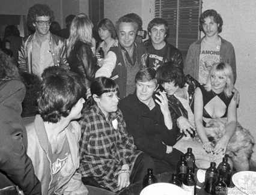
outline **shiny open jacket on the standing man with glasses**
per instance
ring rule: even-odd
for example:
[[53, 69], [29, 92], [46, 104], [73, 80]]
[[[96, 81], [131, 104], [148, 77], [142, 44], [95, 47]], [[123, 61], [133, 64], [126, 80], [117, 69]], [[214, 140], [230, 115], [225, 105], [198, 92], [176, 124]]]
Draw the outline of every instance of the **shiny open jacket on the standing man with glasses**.
[[[50, 32], [49, 32], [50, 33]], [[33, 52], [33, 41], [35, 40], [35, 33], [24, 37], [22, 39], [22, 45], [19, 50], [19, 69], [22, 71], [32, 72], [32, 52]], [[52, 53], [53, 64], [56, 66], [62, 66], [69, 69], [69, 64], [66, 58], [66, 40], [65, 38], [58, 37], [57, 35], [50, 33], [50, 51]]]

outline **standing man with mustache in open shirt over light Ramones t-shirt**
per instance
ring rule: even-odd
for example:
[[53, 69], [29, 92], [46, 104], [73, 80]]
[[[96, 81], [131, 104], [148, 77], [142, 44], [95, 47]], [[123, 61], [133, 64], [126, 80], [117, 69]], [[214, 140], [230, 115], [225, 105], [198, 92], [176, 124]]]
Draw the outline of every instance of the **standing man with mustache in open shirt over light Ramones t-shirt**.
[[200, 16], [200, 31], [205, 36], [192, 43], [187, 52], [184, 73], [190, 74], [201, 84], [206, 83], [212, 65], [226, 62], [231, 65], [236, 82], [236, 55], [233, 45], [221, 38], [223, 20], [215, 10], [206, 10]]

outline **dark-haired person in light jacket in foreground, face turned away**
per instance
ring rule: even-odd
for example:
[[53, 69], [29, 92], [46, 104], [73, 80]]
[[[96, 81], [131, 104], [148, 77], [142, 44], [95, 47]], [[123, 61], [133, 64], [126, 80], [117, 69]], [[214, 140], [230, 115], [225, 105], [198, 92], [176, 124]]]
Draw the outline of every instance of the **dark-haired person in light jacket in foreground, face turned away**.
[[40, 115], [26, 126], [28, 151], [41, 181], [42, 194], [81, 194], [88, 190], [82, 184], [78, 142], [86, 89], [78, 74], [61, 67], [44, 70], [38, 97]]

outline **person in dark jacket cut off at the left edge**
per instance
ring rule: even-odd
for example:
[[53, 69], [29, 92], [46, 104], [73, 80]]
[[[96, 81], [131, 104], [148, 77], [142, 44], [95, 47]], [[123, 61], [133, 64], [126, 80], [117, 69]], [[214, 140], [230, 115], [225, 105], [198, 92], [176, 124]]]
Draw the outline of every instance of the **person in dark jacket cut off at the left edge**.
[[0, 189], [17, 185], [24, 194], [41, 194], [26, 154], [28, 137], [20, 116], [26, 88], [19, 79], [17, 67], [0, 49]]

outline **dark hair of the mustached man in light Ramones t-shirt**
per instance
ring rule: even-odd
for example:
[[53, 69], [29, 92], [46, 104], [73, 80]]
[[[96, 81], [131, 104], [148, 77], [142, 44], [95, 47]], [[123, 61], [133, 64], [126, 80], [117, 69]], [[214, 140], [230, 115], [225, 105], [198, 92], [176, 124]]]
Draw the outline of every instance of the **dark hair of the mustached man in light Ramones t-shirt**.
[[222, 25], [223, 25], [223, 20], [220, 14], [217, 13], [217, 11], [215, 10], [206, 10], [204, 11], [201, 16], [200, 16], [200, 31], [204, 31], [203, 25], [204, 22], [206, 22], [204, 19], [206, 19], [207, 17], [213, 17], [213, 21], [216, 22], [219, 26], [218, 26], [218, 32], [221, 33], [222, 31]]

